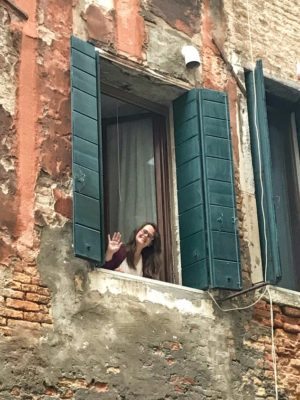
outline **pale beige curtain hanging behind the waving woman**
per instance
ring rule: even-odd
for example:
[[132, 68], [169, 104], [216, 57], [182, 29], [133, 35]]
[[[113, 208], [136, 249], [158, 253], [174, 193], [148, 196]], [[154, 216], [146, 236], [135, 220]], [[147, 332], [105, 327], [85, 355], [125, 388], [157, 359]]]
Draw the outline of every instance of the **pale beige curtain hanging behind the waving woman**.
[[109, 230], [126, 242], [135, 227], [156, 222], [152, 120], [109, 124], [107, 155]]

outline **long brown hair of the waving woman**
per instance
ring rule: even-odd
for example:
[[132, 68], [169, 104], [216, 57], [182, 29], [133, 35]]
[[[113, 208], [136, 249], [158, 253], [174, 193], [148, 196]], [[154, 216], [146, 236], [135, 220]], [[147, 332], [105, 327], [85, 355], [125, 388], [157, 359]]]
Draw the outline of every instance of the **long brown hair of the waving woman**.
[[161, 239], [157, 225], [153, 222], [145, 222], [140, 227], [136, 228], [127, 243], [127, 263], [130, 268], [136, 269], [134, 265], [134, 253], [136, 250], [136, 235], [146, 225], [151, 225], [154, 228], [154, 237], [150, 246], [145, 247], [142, 250], [143, 260], [143, 276], [145, 278], [158, 278], [160, 266], [161, 266]]

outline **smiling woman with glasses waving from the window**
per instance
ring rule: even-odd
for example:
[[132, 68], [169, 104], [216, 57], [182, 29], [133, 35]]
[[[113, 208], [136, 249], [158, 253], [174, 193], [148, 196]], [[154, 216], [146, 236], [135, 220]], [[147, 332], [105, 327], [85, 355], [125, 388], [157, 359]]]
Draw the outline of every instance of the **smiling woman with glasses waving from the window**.
[[114, 269], [146, 278], [158, 278], [161, 241], [157, 226], [146, 222], [135, 229], [127, 245], [121, 241], [120, 232], [108, 235], [104, 268]]

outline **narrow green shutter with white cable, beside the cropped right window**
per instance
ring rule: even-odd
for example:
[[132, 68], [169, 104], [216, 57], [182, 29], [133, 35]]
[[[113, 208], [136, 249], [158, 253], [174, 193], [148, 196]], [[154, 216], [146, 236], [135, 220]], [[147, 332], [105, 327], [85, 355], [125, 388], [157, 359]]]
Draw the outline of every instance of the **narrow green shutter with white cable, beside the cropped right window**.
[[[245, 78], [262, 261], [264, 268], [267, 266], [267, 280], [275, 284], [281, 278], [281, 267], [273, 201], [271, 150], [261, 60], [257, 61], [254, 73], [252, 71], [247, 72]], [[258, 135], [256, 130], [258, 130]]]

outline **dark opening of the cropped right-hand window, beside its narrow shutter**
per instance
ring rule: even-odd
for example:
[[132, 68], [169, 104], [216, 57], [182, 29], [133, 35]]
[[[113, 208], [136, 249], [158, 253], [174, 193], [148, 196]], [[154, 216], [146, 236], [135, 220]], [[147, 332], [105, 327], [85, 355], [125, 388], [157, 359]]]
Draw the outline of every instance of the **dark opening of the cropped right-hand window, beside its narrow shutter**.
[[299, 144], [292, 105], [267, 96], [274, 209], [282, 279], [280, 287], [300, 290]]

